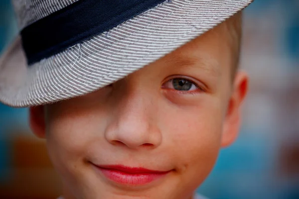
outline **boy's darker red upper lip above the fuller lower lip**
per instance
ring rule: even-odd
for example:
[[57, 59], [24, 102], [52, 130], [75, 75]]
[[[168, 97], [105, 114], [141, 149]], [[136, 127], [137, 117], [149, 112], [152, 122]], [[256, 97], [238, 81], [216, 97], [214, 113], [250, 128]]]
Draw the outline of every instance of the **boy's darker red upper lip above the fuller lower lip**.
[[117, 170], [129, 174], [147, 174], [147, 173], [162, 174], [168, 172], [168, 171], [150, 170], [142, 167], [128, 167], [124, 165], [96, 165], [96, 166], [101, 169]]

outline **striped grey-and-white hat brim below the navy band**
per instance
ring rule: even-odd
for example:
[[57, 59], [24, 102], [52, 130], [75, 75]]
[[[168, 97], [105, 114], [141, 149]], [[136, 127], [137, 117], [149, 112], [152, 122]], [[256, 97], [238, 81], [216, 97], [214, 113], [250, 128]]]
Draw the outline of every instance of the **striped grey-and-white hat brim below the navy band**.
[[165, 1], [29, 67], [17, 38], [0, 59], [0, 101], [25, 107], [96, 91], [172, 52], [252, 1]]

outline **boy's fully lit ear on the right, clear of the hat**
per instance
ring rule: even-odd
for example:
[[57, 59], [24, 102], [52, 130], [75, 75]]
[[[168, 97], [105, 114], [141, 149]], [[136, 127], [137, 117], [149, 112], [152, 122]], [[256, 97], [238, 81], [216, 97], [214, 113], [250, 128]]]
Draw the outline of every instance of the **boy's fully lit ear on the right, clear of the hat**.
[[221, 138], [221, 146], [226, 147], [232, 144], [238, 136], [241, 125], [240, 107], [246, 97], [248, 91], [248, 76], [244, 72], [237, 72], [233, 92], [229, 100], [223, 134]]

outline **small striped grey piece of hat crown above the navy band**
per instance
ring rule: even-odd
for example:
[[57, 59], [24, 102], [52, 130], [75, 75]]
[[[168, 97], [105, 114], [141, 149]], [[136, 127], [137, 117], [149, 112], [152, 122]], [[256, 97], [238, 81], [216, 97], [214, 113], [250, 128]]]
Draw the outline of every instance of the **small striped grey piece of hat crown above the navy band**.
[[11, 0], [20, 29], [78, 0]]

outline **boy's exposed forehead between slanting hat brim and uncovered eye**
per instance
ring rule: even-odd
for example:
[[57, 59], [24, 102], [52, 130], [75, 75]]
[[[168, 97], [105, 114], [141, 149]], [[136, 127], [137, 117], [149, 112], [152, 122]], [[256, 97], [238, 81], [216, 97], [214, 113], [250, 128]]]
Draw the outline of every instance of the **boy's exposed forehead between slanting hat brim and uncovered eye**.
[[220, 76], [232, 65], [228, 40], [225, 30], [215, 28], [166, 55], [163, 62], [173, 69], [196, 68]]

